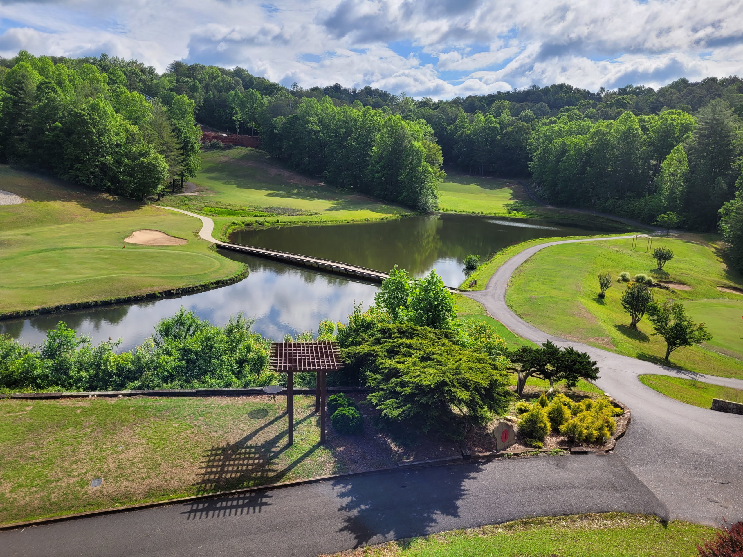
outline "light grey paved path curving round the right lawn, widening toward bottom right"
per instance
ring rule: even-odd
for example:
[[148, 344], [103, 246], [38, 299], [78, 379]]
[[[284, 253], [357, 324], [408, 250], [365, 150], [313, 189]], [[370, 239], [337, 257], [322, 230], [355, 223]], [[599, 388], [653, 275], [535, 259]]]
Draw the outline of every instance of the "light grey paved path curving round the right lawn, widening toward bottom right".
[[[626, 236], [631, 238], [631, 236]], [[632, 423], [615, 452], [637, 478], [666, 504], [671, 518], [721, 524], [743, 520], [743, 416], [680, 403], [646, 387], [640, 374], [697, 377], [717, 385], [743, 388], [743, 380], [693, 374], [570, 342], [544, 333], [513, 313], [505, 301], [513, 272], [539, 250], [557, 244], [610, 238], [553, 241], [524, 250], [506, 261], [485, 290], [466, 293], [519, 336], [541, 344], [588, 352], [598, 362], [597, 385], [632, 409]]]

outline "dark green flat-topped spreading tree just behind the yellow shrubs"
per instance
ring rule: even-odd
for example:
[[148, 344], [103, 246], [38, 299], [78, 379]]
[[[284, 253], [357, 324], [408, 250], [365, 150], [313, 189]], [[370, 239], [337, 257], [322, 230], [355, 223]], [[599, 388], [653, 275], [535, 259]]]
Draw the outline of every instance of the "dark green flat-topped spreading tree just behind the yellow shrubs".
[[597, 380], [599, 368], [585, 352], [578, 352], [573, 347], [558, 348], [547, 341], [539, 348], [521, 346], [508, 353], [511, 362], [509, 371], [516, 373], [516, 393], [524, 394], [524, 387], [529, 377], [549, 381], [550, 389], [554, 382], [565, 380], [573, 388], [582, 378]]

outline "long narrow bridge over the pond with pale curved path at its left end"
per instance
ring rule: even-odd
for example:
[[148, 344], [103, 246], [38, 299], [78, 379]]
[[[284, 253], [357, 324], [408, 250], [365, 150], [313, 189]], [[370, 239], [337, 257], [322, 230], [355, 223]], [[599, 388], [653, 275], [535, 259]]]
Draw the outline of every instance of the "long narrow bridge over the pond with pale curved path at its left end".
[[[352, 276], [369, 282], [381, 282], [385, 278], [389, 277], [389, 273], [383, 273], [382, 271], [367, 269], [366, 267], [359, 267], [358, 265], [351, 265], [348, 263], [343, 263], [341, 261], [332, 261], [331, 259], [310, 257], [309, 255], [299, 255], [298, 253], [282, 252], [279, 250], [267, 250], [263, 247], [245, 246], [243, 244], [232, 244], [230, 242], [223, 242], [217, 240], [216, 238], [212, 238], [212, 232], [214, 231], [214, 221], [212, 221], [211, 218], [184, 211], [182, 209], [174, 209], [173, 207], [163, 206], [162, 208], [182, 212], [186, 215], [201, 219], [201, 223], [203, 224], [203, 226], [201, 227], [199, 236], [206, 241], [217, 244], [218, 247], [221, 247], [224, 250], [233, 250], [236, 252], [244, 253], [246, 255], [253, 255], [253, 257], [261, 257], [265, 259], [272, 259], [273, 261], [281, 261], [282, 263], [296, 265], [298, 267], [308, 267], [310, 269], [324, 270], [328, 273]], [[458, 288], [447, 288], [452, 293], [460, 291]]]

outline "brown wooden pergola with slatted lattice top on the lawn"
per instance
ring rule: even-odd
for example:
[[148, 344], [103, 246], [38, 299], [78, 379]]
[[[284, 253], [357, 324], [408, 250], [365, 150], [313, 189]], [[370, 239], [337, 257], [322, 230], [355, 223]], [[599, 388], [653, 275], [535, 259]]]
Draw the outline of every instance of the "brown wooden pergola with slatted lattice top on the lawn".
[[325, 403], [328, 394], [325, 379], [328, 371], [343, 369], [337, 342], [273, 342], [268, 367], [279, 374], [288, 374], [286, 413], [289, 417], [289, 445], [294, 443], [294, 374], [317, 373], [315, 411], [320, 411], [320, 443], [325, 443]]

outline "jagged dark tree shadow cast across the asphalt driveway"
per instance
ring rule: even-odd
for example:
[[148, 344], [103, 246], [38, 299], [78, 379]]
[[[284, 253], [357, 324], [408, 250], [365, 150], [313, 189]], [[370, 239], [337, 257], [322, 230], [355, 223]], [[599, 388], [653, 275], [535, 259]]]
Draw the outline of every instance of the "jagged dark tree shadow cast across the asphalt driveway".
[[459, 501], [468, 491], [464, 482], [480, 471], [479, 465], [440, 466], [337, 480], [334, 491], [345, 499], [338, 511], [347, 515], [339, 532], [353, 535], [354, 547], [380, 535], [425, 535], [441, 516], [459, 517]]

